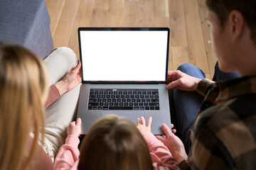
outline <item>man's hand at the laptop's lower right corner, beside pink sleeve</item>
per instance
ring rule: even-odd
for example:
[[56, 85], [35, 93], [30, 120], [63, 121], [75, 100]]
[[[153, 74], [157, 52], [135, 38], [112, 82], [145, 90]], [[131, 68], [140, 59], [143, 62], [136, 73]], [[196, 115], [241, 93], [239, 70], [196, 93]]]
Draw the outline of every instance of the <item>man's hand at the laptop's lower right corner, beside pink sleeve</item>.
[[170, 130], [170, 128], [166, 125], [162, 125], [162, 130], [164, 131], [163, 136], [156, 136], [158, 140], [164, 143], [164, 145], [169, 149], [171, 154], [176, 158], [178, 164], [183, 160], [188, 159], [188, 155], [186, 154], [185, 148], [181, 140], [174, 135], [173, 132], [176, 130]]

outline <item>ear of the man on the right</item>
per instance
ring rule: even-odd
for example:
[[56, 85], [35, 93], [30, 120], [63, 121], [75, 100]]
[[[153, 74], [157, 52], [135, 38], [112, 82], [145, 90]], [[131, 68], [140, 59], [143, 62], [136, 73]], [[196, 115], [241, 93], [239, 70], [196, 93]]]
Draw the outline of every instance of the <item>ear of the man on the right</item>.
[[237, 40], [245, 29], [245, 18], [240, 11], [233, 10], [229, 15], [229, 23], [232, 27], [232, 40]]

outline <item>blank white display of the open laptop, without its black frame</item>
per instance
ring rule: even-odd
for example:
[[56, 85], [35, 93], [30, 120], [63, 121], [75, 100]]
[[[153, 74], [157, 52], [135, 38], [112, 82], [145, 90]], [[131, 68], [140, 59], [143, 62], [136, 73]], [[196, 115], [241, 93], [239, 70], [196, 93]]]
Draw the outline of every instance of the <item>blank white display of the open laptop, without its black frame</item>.
[[83, 81], [165, 81], [167, 30], [80, 30]]

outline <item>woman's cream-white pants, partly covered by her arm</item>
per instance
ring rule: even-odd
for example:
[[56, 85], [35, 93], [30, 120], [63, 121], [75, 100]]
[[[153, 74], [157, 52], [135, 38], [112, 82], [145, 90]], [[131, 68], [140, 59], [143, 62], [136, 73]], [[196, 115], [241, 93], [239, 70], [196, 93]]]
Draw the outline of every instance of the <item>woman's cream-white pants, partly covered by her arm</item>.
[[[48, 67], [49, 86], [51, 86], [63, 79], [65, 74], [76, 66], [77, 57], [70, 48], [58, 47], [46, 57], [44, 62]], [[46, 128], [43, 149], [53, 162], [58, 149], [65, 144], [68, 125], [76, 118], [80, 85], [60, 96], [45, 110]]]

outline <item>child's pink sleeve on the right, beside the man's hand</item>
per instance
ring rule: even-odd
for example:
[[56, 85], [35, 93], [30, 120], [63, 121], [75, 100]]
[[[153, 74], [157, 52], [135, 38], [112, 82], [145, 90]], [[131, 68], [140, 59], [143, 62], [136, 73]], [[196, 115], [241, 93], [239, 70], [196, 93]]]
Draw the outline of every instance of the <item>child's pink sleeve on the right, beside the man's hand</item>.
[[180, 169], [178, 162], [163, 142], [157, 140], [152, 133], [146, 134], [144, 139], [149, 147], [154, 169]]

